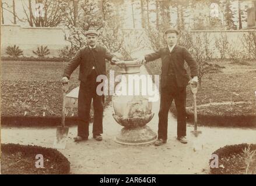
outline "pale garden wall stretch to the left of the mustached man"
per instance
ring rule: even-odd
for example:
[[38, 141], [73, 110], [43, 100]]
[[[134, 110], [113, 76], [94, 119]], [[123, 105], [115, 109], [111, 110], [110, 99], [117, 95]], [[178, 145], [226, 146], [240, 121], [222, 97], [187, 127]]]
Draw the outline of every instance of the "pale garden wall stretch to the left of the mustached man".
[[50, 55], [58, 56], [58, 50], [69, 45], [64, 40], [62, 28], [36, 28], [21, 27], [18, 25], [1, 25], [1, 56], [8, 56], [5, 53], [6, 47], [17, 45], [23, 50], [24, 56], [36, 56], [33, 51], [43, 45], [50, 49]]

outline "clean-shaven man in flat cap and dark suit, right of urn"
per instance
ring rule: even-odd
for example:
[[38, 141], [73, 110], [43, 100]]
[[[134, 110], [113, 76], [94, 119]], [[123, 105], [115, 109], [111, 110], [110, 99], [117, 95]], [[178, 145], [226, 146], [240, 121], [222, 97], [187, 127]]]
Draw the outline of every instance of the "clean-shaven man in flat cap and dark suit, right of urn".
[[[189, 83], [197, 83], [198, 64], [186, 48], [177, 45], [177, 35], [178, 31], [176, 29], [167, 29], [164, 32], [167, 46], [138, 59], [139, 63], [162, 59], [158, 140], [155, 142], [157, 146], [163, 145], [167, 141], [168, 113], [173, 99], [177, 110], [177, 140], [183, 144], [187, 143], [186, 87]], [[185, 70], [184, 62], [190, 67], [191, 80], [187, 70]]]

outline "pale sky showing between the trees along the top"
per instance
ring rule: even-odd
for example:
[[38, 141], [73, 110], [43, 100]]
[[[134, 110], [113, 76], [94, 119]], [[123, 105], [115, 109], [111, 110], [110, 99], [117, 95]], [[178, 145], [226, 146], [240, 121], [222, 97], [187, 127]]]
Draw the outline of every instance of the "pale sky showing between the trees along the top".
[[[29, 1], [31, 2], [32, 13], [35, 15], [35, 0], [15, 0], [16, 24], [29, 26], [28, 22], [21, 22], [21, 20], [26, 19], [27, 15], [29, 15]], [[84, 0], [79, 1], [83, 2]], [[246, 9], [252, 1], [109, 0], [109, 2], [111, 2], [114, 8], [113, 10], [117, 11], [118, 15], [122, 17], [122, 28], [143, 28], [143, 21], [147, 26], [150, 26], [150, 24], [161, 24], [163, 20], [167, 19], [165, 16], [169, 16], [170, 21], [166, 24], [170, 24], [172, 27], [178, 27], [182, 24], [181, 28], [186, 30], [211, 30], [215, 27], [223, 30], [236, 30], [239, 29], [239, 12], [242, 28], [247, 27]], [[210, 20], [212, 3], [218, 4], [218, 23]], [[12, 13], [13, 0], [2, 0], [2, 7], [3, 20], [1, 22], [4, 22], [4, 24], [15, 23]], [[216, 26], [212, 26], [213, 24], [216, 24]], [[61, 24], [58, 24], [58, 26], [61, 26]]]

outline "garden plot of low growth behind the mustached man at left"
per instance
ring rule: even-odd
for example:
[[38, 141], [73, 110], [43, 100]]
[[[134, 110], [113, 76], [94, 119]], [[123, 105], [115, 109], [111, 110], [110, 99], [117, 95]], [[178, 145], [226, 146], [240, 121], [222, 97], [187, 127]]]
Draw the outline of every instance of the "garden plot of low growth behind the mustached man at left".
[[[61, 116], [61, 78], [67, 63], [61, 62], [1, 62], [2, 116]], [[107, 70], [117, 66], [107, 63]], [[79, 68], [69, 81], [69, 91], [79, 86]], [[111, 101], [106, 96], [104, 106]], [[76, 110], [75, 110], [76, 111]], [[77, 116], [77, 112], [75, 115]]]

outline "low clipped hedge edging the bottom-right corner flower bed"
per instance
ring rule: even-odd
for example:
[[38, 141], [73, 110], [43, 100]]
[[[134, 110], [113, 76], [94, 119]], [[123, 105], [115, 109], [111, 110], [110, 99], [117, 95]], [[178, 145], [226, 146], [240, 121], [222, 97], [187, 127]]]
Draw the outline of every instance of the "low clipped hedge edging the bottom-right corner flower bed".
[[[226, 145], [222, 148], [219, 148], [212, 155], [218, 155], [219, 160], [225, 157], [230, 157], [234, 154], [243, 153], [244, 148], [248, 148], [249, 144], [237, 144], [237, 145]], [[256, 149], [256, 144], [251, 144], [251, 150]], [[211, 174], [223, 174], [225, 168], [219, 167], [214, 168], [211, 167], [212, 159], [209, 160], [209, 165], [211, 169]], [[220, 164], [219, 164], [220, 165]]]

